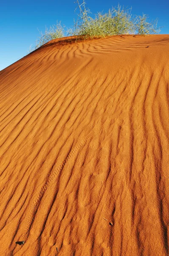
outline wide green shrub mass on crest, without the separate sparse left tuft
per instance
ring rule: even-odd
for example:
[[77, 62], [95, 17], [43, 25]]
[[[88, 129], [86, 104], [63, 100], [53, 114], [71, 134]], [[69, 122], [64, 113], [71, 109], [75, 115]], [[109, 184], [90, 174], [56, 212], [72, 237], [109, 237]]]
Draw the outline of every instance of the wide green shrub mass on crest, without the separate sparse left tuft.
[[111, 35], [138, 34], [147, 35], [160, 32], [157, 28], [157, 19], [148, 22], [148, 15], [133, 16], [131, 8], [124, 9], [118, 4], [117, 8], [112, 7], [107, 13], [98, 12], [95, 18], [90, 17], [90, 10], [86, 8], [85, 0], [82, 4], [76, 0], [80, 13], [70, 32], [78, 38], [103, 38]]

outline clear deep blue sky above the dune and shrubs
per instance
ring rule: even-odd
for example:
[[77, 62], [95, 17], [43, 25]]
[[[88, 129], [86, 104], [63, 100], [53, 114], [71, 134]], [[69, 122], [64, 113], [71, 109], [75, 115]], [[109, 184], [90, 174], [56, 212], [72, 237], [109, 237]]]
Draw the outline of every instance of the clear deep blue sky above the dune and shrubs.
[[[62, 21], [66, 27], [73, 26], [77, 14], [75, 0], [1, 0], [0, 4], [0, 70], [8, 67], [29, 51], [39, 31], [45, 32]], [[79, 0], [82, 3], [82, 0]], [[169, 34], [168, 0], [85, 0], [87, 7], [95, 14], [107, 12], [112, 6], [130, 8], [133, 15], [148, 14], [150, 20], [158, 17], [161, 34]], [[38, 29], [37, 29], [38, 28]]]

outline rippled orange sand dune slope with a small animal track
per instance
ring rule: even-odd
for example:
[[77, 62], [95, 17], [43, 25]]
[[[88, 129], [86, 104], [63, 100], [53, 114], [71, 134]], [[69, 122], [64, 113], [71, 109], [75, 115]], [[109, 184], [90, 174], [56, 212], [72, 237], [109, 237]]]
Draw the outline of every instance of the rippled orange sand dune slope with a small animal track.
[[2, 70], [0, 256], [167, 256], [168, 150], [169, 35], [54, 40]]

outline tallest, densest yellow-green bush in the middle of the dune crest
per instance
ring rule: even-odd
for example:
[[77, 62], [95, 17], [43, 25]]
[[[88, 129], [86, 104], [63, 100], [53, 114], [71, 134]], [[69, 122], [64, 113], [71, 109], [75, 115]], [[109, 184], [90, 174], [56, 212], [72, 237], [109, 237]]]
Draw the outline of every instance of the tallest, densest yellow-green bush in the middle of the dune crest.
[[86, 8], [86, 3], [78, 4], [80, 13], [74, 22], [72, 35], [79, 38], [102, 38], [110, 35], [127, 34], [132, 31], [131, 9], [117, 8], [109, 9], [107, 13], [98, 12], [94, 18], [90, 17], [90, 10]]

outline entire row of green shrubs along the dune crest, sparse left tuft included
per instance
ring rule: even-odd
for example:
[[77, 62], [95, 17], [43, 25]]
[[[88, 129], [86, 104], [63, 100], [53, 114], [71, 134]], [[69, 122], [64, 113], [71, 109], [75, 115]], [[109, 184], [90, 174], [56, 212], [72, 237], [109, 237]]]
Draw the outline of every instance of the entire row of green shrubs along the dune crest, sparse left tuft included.
[[[107, 13], [98, 12], [94, 18], [90, 17], [90, 10], [86, 7], [85, 0], [82, 4], [76, 0], [77, 8], [79, 8], [78, 18], [74, 20], [73, 29], [67, 30], [65, 34], [64, 26], [61, 22], [45, 30], [45, 34], [40, 32], [40, 36], [36, 41], [36, 46], [29, 52], [41, 47], [48, 41], [56, 38], [62, 38], [68, 35], [76, 36], [76, 40], [86, 40], [93, 38], [104, 38], [112, 35], [149, 35], [159, 33], [161, 30], [157, 27], [158, 19], [149, 22], [148, 15], [143, 16], [131, 14], [130, 9], [112, 7]], [[76, 11], [75, 9], [75, 11]]]

